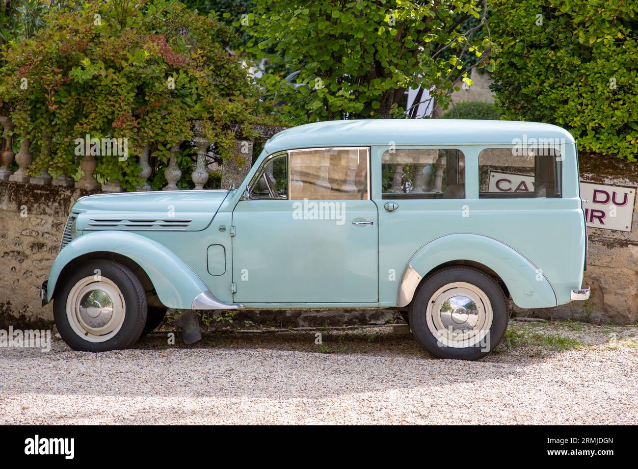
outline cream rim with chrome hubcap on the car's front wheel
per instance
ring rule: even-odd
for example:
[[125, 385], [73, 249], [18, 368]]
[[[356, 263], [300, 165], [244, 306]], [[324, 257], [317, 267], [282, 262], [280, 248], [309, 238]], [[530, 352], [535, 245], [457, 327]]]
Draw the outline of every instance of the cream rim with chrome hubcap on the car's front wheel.
[[80, 279], [66, 299], [66, 317], [71, 329], [89, 342], [105, 342], [124, 323], [126, 304], [115, 283], [94, 276]]

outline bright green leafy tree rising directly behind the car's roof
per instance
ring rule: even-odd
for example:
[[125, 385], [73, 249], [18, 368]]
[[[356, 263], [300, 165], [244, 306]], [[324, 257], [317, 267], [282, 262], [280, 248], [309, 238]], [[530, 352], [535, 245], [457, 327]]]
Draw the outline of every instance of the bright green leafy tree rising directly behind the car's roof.
[[[471, 84], [465, 57], [482, 57], [481, 66], [491, 66], [486, 59], [491, 42], [472, 35], [484, 22], [482, 3], [256, 0], [255, 5], [245, 19], [254, 36], [254, 47], [247, 48], [269, 59], [277, 72], [266, 73], [262, 84], [277, 93], [286, 105], [280, 114], [292, 123], [404, 117], [404, 91], [419, 86], [433, 89], [433, 99], [447, 107], [457, 78]], [[479, 19], [476, 29], [462, 29], [470, 18]], [[283, 78], [297, 70], [288, 86]]]

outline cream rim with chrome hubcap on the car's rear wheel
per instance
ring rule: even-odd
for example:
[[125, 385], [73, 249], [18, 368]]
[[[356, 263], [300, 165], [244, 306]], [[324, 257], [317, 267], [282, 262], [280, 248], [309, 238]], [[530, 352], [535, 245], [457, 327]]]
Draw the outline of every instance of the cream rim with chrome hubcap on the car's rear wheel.
[[480, 343], [492, 327], [492, 304], [476, 285], [448, 283], [427, 302], [426, 320], [430, 332], [441, 344], [470, 347]]

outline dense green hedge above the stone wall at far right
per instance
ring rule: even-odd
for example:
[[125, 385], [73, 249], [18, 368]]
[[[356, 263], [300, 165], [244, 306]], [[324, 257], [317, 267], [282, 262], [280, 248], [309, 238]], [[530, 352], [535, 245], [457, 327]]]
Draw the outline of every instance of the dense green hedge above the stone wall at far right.
[[494, 0], [494, 70], [507, 119], [563, 126], [586, 151], [636, 161], [638, 2]]

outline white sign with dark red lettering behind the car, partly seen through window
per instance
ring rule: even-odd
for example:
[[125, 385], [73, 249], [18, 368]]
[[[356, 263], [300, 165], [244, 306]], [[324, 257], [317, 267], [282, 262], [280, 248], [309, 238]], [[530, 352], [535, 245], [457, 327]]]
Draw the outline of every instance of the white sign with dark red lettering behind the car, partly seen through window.
[[[531, 192], [534, 177], [523, 174], [489, 172], [490, 192]], [[588, 227], [631, 231], [636, 188], [581, 182], [582, 204]]]

